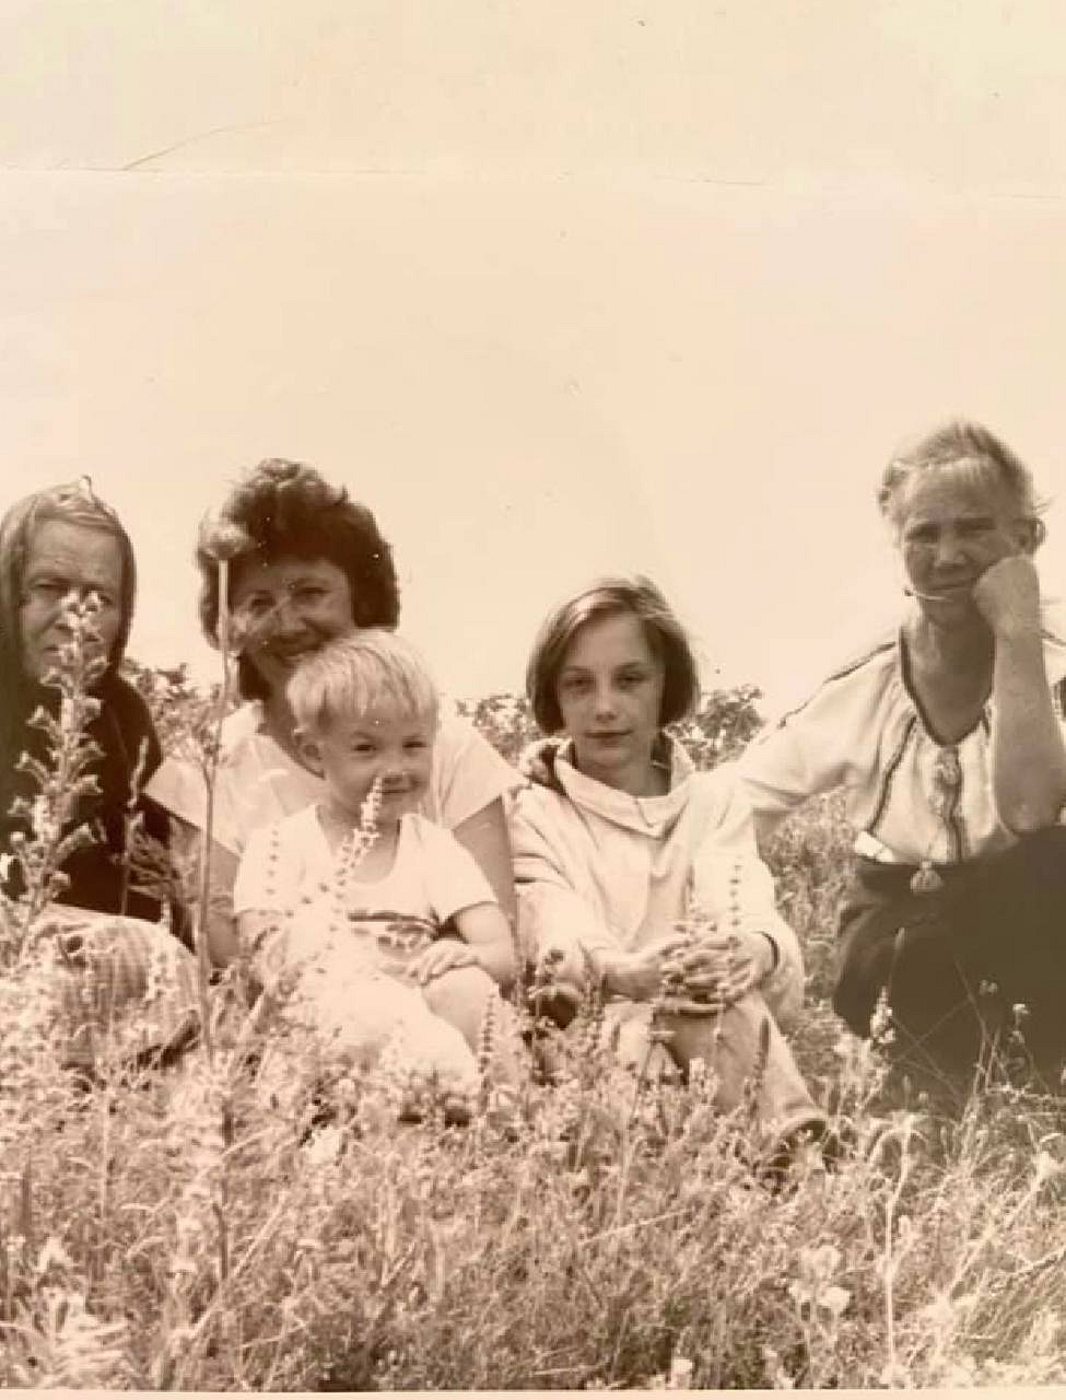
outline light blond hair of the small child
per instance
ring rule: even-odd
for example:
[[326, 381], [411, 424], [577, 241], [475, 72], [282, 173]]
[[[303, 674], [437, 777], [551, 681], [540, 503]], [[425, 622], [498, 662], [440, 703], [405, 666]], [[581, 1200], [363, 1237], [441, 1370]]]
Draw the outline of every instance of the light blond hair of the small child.
[[435, 725], [439, 704], [432, 676], [414, 647], [376, 627], [308, 657], [285, 693], [297, 728], [309, 735], [371, 710], [397, 711]]

